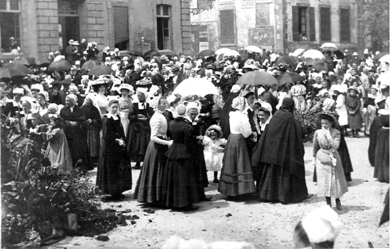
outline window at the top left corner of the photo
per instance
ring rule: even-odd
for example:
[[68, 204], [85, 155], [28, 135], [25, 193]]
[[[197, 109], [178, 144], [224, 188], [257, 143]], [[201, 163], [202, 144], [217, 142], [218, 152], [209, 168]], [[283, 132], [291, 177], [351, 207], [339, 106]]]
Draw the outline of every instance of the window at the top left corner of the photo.
[[19, 0], [0, 0], [0, 32], [1, 52], [11, 52], [20, 47]]

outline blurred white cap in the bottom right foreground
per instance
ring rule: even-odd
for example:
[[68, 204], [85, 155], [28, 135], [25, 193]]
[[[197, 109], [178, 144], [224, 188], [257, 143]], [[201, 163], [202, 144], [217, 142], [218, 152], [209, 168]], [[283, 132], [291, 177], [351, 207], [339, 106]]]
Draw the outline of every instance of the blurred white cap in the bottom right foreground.
[[311, 243], [334, 241], [341, 230], [338, 215], [328, 205], [316, 208], [302, 219], [302, 227]]

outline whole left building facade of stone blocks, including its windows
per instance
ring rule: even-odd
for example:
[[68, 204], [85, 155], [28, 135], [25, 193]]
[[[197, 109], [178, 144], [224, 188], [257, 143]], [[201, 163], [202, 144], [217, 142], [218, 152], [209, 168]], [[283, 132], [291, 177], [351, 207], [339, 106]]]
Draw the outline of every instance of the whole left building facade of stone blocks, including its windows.
[[189, 0], [1, 0], [0, 58], [10, 37], [25, 57], [42, 58], [70, 39], [145, 53], [190, 54]]

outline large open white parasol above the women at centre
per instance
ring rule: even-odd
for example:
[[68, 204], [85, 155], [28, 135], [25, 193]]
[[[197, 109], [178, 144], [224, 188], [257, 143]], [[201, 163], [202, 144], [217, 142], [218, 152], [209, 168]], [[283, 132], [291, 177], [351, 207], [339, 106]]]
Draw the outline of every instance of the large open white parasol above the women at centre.
[[218, 94], [215, 85], [203, 78], [191, 78], [182, 81], [173, 90], [172, 94], [180, 94], [182, 97], [190, 95], [206, 96], [207, 94]]

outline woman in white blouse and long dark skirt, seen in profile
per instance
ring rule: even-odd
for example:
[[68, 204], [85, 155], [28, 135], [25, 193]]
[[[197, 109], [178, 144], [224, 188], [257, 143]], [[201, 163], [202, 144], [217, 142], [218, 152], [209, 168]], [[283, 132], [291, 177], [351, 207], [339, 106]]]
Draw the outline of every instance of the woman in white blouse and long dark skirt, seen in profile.
[[162, 174], [167, 161], [168, 148], [173, 140], [167, 141], [168, 124], [163, 115], [167, 109], [167, 101], [163, 97], [153, 99], [154, 114], [150, 118], [150, 142], [146, 150], [144, 164], [134, 190], [134, 199], [138, 202], [161, 203]]

